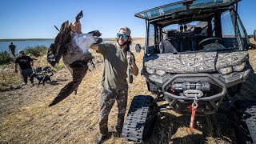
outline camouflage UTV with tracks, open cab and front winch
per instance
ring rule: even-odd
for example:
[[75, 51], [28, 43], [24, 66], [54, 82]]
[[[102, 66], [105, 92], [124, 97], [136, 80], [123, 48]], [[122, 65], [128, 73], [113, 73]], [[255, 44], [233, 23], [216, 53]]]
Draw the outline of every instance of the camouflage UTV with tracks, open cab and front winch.
[[[135, 14], [146, 20], [142, 75], [155, 97], [137, 95], [122, 136], [145, 142], [161, 110], [214, 114], [253, 73], [239, 0], [186, 0]], [[136, 46], [139, 50], [141, 47]], [[159, 100], [167, 105], [158, 106]], [[193, 128], [190, 126], [190, 130]]]

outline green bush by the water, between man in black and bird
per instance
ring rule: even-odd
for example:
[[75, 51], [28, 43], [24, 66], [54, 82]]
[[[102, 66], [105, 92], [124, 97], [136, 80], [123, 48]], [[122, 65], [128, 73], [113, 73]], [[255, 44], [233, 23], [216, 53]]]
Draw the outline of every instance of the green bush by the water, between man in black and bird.
[[47, 54], [47, 50], [48, 48], [46, 46], [29, 46], [24, 50], [24, 52], [25, 54], [31, 54], [35, 57], [39, 57]]

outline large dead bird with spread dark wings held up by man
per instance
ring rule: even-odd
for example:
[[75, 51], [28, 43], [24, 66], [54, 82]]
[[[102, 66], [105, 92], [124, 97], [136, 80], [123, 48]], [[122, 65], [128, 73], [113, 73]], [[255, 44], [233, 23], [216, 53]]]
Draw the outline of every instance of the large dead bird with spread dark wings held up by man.
[[73, 79], [62, 88], [58, 96], [54, 98], [54, 101], [49, 106], [54, 106], [58, 102], [61, 102], [73, 91], [76, 93], [79, 84], [82, 82], [82, 78], [84, 78], [88, 70], [87, 63], [92, 59], [88, 51], [89, 47], [94, 43], [102, 42], [102, 38], [98, 38], [100, 36], [101, 33], [98, 30], [94, 30], [88, 34], [71, 34], [69, 22], [66, 21], [62, 24], [58, 35], [50, 45], [47, 61], [51, 66], [55, 66], [60, 58], [62, 58]]

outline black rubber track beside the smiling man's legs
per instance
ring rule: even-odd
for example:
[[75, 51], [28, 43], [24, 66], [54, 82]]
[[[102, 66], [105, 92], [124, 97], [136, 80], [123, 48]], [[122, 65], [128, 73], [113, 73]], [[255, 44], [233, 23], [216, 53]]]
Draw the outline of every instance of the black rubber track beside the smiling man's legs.
[[122, 128], [123, 138], [136, 143], [143, 142], [143, 130], [152, 100], [153, 98], [151, 96], [146, 95], [137, 95], [133, 98], [126, 122]]

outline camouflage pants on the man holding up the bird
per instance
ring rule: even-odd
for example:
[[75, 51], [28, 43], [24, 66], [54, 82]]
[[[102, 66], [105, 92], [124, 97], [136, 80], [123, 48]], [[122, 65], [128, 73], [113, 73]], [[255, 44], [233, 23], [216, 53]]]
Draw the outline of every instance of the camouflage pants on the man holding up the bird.
[[126, 114], [127, 96], [127, 90], [106, 90], [103, 88], [99, 118], [100, 134], [108, 134], [108, 116], [115, 101], [118, 102], [118, 118], [115, 128], [118, 132], [122, 131], [122, 126]]

